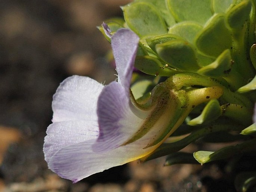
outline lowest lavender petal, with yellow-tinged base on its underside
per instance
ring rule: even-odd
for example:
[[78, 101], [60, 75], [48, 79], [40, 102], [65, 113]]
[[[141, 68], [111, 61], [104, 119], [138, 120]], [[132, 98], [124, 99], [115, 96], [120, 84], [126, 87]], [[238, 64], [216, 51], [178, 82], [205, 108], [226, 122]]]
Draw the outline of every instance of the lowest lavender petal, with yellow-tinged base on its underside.
[[[87, 140], [60, 149], [48, 162], [49, 168], [60, 177], [77, 183], [92, 174], [144, 157], [153, 150], [142, 149], [140, 142], [134, 142], [96, 153], [92, 151], [92, 143], [93, 140]], [[145, 141], [142, 143], [145, 145]]]

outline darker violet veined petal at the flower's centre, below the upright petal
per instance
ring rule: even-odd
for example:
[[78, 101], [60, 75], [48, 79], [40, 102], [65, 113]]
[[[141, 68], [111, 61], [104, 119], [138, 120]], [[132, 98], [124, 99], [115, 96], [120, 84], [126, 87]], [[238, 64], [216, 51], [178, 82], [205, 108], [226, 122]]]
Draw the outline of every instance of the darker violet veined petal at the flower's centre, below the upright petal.
[[117, 148], [136, 132], [142, 123], [130, 110], [130, 99], [125, 88], [112, 82], [105, 86], [98, 99], [99, 138], [93, 146], [95, 151]]

